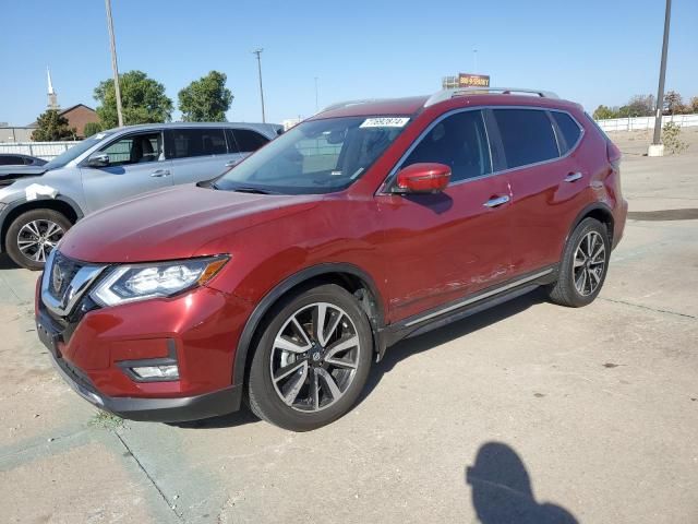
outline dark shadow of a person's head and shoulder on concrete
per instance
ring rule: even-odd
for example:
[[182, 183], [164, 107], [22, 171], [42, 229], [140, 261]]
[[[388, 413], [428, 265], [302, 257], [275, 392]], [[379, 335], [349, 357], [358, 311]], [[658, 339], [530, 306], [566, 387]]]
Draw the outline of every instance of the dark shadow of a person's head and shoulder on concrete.
[[482, 524], [577, 524], [565, 508], [537, 502], [531, 478], [519, 455], [507, 444], [486, 442], [472, 466], [466, 467], [466, 484]]

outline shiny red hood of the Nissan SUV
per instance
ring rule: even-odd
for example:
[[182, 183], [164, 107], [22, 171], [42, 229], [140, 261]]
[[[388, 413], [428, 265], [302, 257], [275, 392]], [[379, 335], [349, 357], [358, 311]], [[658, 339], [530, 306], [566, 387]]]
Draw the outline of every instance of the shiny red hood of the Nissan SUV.
[[206, 245], [316, 204], [316, 195], [250, 194], [177, 186], [145, 193], [80, 221], [60, 243], [75, 260], [149, 262], [219, 254]]

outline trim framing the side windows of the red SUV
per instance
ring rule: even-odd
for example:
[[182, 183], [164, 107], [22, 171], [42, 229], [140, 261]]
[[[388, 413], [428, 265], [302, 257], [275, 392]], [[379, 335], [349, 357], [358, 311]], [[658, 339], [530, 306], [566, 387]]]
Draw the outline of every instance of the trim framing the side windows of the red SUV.
[[[389, 191], [389, 187], [392, 186], [395, 176], [397, 175], [397, 171], [400, 169], [400, 166], [402, 165], [402, 163], [408, 158], [408, 156], [412, 153], [412, 151], [419, 145], [419, 143], [424, 140], [424, 136], [426, 136], [426, 134], [437, 124], [440, 123], [442, 120], [444, 120], [445, 118], [450, 117], [452, 115], [456, 115], [459, 112], [465, 112], [465, 111], [483, 111], [485, 109], [530, 109], [530, 110], [535, 110], [535, 111], [556, 111], [556, 112], [564, 112], [565, 115], [567, 115], [569, 118], [573, 119], [573, 121], [577, 124], [577, 127], [579, 128], [579, 138], [577, 139], [577, 142], [575, 142], [575, 145], [569, 147], [569, 150], [567, 150], [567, 152], [564, 155], [559, 155], [555, 158], [549, 158], [547, 160], [541, 160], [541, 162], [535, 162], [533, 164], [525, 164], [522, 166], [516, 166], [516, 167], [509, 167], [506, 169], [501, 169], [498, 171], [492, 171], [489, 172], [486, 175], [482, 175], [480, 177], [472, 177], [472, 178], [466, 178], [465, 180], [458, 180], [457, 182], [454, 183], [449, 183], [448, 188], [455, 187], [455, 186], [459, 186], [461, 183], [467, 183], [467, 182], [471, 182], [471, 181], [476, 181], [476, 180], [482, 180], [483, 178], [490, 178], [490, 177], [494, 177], [497, 175], [504, 175], [504, 174], [508, 174], [510, 171], [515, 171], [517, 169], [528, 169], [530, 167], [537, 167], [537, 166], [542, 166], [544, 164], [551, 164], [553, 162], [557, 162], [557, 160], [562, 160], [564, 158], [567, 158], [568, 156], [570, 156], [573, 153], [575, 153], [577, 151], [577, 147], [579, 147], [579, 144], [581, 143], [583, 136], [585, 136], [585, 128], [583, 126], [581, 126], [579, 123], [579, 121], [575, 118], [574, 115], [571, 115], [569, 111], [565, 110], [565, 109], [557, 109], [557, 108], [549, 108], [549, 107], [540, 107], [540, 106], [476, 106], [476, 107], [459, 107], [457, 109], [452, 109], [450, 111], [446, 111], [443, 115], [441, 115], [436, 120], [434, 120], [433, 122], [431, 122], [426, 129], [424, 129], [424, 131], [422, 131], [420, 133], [420, 135], [412, 142], [412, 144], [407, 148], [407, 151], [402, 154], [402, 156], [400, 156], [399, 160], [395, 164], [395, 166], [393, 166], [393, 168], [390, 169], [390, 171], [388, 172], [387, 177], [385, 177], [385, 179], [383, 180], [383, 183], [381, 184], [381, 187], [378, 188], [378, 190], [376, 191], [376, 195], [392, 195], [392, 194], [399, 194], [399, 193], [394, 193], [392, 191]], [[550, 117], [549, 117], [550, 119]], [[484, 119], [483, 119], [484, 120]], [[492, 160], [492, 143], [490, 141], [490, 132], [488, 130], [488, 122], [484, 121], [484, 129], [485, 129], [485, 136], [488, 139], [488, 147], [490, 150], [490, 168], [494, 168], [494, 164]], [[555, 128], [553, 126], [553, 122], [551, 122], [551, 128], [553, 129], [553, 135], [555, 136], [555, 143], [557, 144], [557, 134], [555, 132]], [[559, 152], [559, 147], [557, 147], [557, 151]], [[506, 151], [504, 152], [505, 156], [506, 156]]]

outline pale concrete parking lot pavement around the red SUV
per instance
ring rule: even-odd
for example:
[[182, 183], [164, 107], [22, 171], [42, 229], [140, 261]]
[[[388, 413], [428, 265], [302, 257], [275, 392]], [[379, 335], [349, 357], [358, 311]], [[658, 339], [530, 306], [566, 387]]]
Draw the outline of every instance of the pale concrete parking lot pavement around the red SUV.
[[246, 410], [104, 416], [36, 337], [36, 273], [0, 259], [0, 521], [698, 522], [698, 130], [625, 153], [600, 298], [533, 293], [393, 347], [360, 404], [292, 433]]

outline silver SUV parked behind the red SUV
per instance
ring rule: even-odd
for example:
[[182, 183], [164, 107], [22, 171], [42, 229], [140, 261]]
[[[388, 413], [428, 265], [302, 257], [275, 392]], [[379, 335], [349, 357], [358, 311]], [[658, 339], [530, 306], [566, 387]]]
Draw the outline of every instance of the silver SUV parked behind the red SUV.
[[215, 178], [276, 138], [270, 123], [156, 123], [97, 133], [40, 167], [0, 168], [0, 252], [39, 270], [84, 215]]

